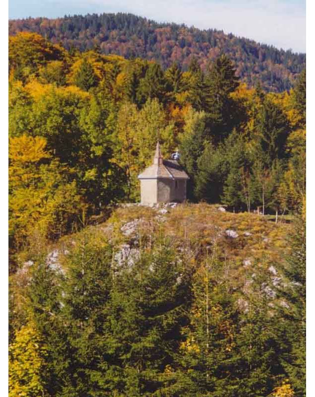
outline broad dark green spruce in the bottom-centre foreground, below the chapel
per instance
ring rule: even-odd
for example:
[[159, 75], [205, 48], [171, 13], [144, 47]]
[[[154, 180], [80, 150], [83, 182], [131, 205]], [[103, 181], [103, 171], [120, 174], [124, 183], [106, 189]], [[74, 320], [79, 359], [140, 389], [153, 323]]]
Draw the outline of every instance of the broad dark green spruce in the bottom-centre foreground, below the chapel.
[[153, 252], [141, 252], [132, 267], [118, 268], [115, 277], [108, 344], [123, 371], [113, 387], [126, 396], [161, 395], [168, 387], [187, 321], [186, 270], [171, 242], [157, 244]]

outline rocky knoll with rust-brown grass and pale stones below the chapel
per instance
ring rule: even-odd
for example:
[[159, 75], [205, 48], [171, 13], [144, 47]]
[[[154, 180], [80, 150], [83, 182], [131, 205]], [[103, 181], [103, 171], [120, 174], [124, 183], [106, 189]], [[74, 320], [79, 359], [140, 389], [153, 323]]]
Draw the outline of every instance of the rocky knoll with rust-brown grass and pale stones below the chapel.
[[[269, 275], [272, 281], [277, 274], [275, 266], [290, 251], [286, 241], [290, 224], [281, 220], [275, 224], [266, 216], [248, 212], [231, 213], [219, 205], [121, 204], [106, 221], [94, 223], [47, 244], [47, 263], [63, 271], [64, 258], [80, 244], [82, 236], [88, 236], [87, 240], [113, 247], [115, 266], [132, 266], [145, 252], [154, 251], [162, 238], [171, 243], [178, 257], [185, 258], [191, 271], [204, 264], [207, 247], [213, 251], [215, 246], [217, 260], [228, 269], [226, 281], [239, 289], [255, 271]], [[27, 255], [32, 256], [32, 249]], [[29, 265], [24, 264], [22, 274]]]

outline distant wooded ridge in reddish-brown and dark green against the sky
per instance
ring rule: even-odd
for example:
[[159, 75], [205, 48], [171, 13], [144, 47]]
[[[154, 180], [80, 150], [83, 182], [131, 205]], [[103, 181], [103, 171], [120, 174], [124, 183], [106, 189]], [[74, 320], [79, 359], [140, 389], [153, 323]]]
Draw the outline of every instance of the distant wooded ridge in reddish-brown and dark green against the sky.
[[203, 71], [220, 55], [227, 55], [236, 74], [249, 87], [259, 81], [266, 91], [282, 92], [294, 85], [306, 66], [306, 55], [276, 49], [215, 29], [199, 30], [175, 23], [157, 23], [132, 14], [88, 14], [64, 18], [9, 21], [9, 34], [35, 32], [81, 52], [98, 48], [101, 54], [157, 61], [163, 69], [178, 63], [188, 70], [192, 58]]

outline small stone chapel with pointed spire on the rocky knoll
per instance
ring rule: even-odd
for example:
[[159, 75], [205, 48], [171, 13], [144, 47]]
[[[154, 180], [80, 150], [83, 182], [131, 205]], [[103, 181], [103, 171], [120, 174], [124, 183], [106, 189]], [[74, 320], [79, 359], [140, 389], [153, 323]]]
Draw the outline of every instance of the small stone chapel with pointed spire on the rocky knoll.
[[141, 204], [186, 200], [189, 176], [178, 163], [178, 159], [177, 151], [171, 160], [164, 160], [157, 142], [153, 164], [138, 176], [141, 183]]

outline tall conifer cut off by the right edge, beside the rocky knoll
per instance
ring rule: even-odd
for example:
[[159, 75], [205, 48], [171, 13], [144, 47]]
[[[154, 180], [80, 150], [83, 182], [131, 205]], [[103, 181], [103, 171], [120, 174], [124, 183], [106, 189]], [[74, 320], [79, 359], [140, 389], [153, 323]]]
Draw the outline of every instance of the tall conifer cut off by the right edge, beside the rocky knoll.
[[277, 335], [280, 358], [295, 396], [306, 396], [306, 223], [297, 215], [290, 237], [291, 254], [282, 266], [278, 289]]

